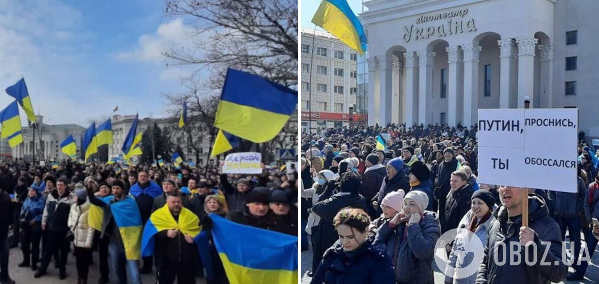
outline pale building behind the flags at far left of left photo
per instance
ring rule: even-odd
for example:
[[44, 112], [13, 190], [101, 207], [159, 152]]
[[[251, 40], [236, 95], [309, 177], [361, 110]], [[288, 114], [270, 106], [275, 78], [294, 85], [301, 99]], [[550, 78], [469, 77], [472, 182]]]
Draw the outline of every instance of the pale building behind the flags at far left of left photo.
[[[53, 158], [68, 158], [60, 149], [60, 143], [69, 135], [73, 136], [75, 143], [79, 146], [79, 141], [85, 129], [77, 124], [46, 124], [42, 115], [37, 116], [38, 127], [34, 129], [29, 126], [23, 126], [23, 143], [12, 149], [15, 158], [33, 158], [35, 143], [35, 160], [49, 160]], [[2, 142], [4, 143], [4, 142]], [[78, 153], [79, 149], [77, 149]]]

